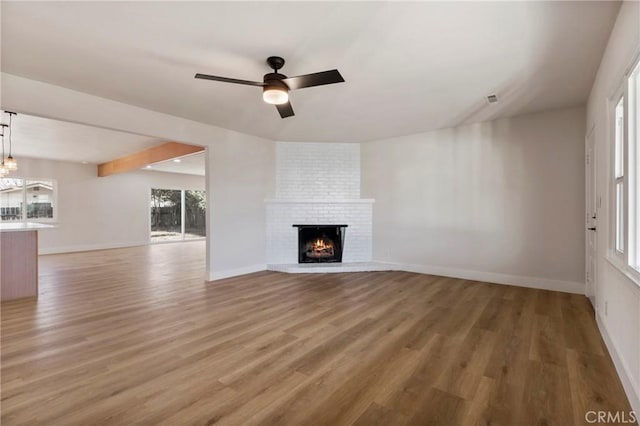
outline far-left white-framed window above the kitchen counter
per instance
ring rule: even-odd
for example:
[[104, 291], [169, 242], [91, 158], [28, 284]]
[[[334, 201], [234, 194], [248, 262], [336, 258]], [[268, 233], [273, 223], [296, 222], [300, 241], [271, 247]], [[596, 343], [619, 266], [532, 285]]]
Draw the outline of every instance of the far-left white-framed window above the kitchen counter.
[[55, 182], [43, 179], [0, 179], [0, 222], [55, 219]]

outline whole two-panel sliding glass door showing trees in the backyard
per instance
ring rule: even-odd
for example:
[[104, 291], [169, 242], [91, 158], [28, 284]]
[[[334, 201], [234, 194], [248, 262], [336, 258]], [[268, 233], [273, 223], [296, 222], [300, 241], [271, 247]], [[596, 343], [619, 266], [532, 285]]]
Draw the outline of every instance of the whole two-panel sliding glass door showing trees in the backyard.
[[151, 241], [204, 238], [206, 202], [204, 191], [151, 189]]

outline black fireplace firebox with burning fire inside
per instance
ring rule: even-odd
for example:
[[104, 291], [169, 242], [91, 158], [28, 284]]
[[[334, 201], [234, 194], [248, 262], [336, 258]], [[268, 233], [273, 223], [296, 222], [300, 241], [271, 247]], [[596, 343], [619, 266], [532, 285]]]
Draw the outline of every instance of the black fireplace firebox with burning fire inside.
[[342, 262], [348, 225], [293, 225], [298, 228], [298, 263]]

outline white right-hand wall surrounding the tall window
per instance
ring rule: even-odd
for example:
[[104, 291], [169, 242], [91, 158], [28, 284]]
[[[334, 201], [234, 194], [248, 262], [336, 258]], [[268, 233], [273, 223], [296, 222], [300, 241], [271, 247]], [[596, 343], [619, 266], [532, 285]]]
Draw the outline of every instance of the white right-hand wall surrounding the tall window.
[[[640, 54], [640, 3], [622, 4], [615, 27], [600, 63], [587, 104], [586, 129], [593, 127], [596, 143], [598, 210], [598, 262], [596, 315], [625, 390], [636, 413], [640, 413], [640, 286], [607, 261], [611, 241], [612, 200], [609, 99], [623, 81], [631, 62]], [[605, 313], [605, 303], [608, 304]]]

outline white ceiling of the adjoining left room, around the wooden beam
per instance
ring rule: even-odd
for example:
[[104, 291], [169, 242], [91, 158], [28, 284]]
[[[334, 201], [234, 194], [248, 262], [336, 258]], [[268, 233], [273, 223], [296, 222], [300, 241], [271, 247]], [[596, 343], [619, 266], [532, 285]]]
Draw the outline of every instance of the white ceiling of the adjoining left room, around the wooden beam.
[[[1, 113], [1, 112], [0, 112]], [[2, 122], [8, 116], [1, 114]], [[13, 117], [12, 154], [20, 157], [100, 164], [167, 141], [83, 124], [18, 114]], [[8, 132], [6, 134], [8, 136]], [[5, 149], [9, 149], [5, 137]], [[151, 170], [204, 176], [204, 154], [154, 164]]]

